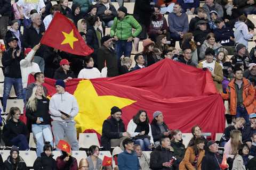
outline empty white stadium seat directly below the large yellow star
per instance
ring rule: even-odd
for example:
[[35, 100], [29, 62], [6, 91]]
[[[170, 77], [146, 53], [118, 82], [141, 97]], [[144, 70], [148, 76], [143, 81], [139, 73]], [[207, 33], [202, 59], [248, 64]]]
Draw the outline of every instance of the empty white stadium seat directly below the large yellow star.
[[96, 133], [79, 133], [79, 148], [89, 149], [90, 146], [96, 145], [100, 147], [100, 143]]

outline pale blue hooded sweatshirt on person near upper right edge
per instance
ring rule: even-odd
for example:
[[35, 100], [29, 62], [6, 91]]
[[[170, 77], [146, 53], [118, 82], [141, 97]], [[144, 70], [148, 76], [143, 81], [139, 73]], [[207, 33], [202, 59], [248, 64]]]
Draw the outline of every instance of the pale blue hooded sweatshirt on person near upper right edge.
[[235, 41], [237, 44], [243, 44], [248, 47], [248, 40], [253, 37], [252, 33], [249, 33], [247, 25], [242, 21], [235, 23]]

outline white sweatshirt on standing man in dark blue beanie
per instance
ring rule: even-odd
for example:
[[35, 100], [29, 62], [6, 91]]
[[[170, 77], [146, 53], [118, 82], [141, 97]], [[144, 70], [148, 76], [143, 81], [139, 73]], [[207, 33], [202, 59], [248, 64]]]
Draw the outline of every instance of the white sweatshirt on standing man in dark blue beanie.
[[[49, 109], [53, 121], [70, 122], [74, 121], [74, 117], [78, 113], [78, 104], [76, 98], [65, 91], [64, 94], [54, 94], [52, 96]], [[70, 117], [67, 120], [63, 120], [60, 111]]]

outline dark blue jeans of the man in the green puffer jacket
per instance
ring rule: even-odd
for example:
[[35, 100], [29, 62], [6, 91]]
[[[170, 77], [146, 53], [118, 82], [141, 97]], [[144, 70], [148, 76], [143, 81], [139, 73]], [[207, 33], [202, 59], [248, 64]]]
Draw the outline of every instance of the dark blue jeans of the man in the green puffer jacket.
[[116, 56], [118, 65], [120, 65], [120, 58], [122, 55], [125, 57], [130, 57], [132, 52], [132, 42], [127, 42], [127, 40], [116, 41], [115, 44]]

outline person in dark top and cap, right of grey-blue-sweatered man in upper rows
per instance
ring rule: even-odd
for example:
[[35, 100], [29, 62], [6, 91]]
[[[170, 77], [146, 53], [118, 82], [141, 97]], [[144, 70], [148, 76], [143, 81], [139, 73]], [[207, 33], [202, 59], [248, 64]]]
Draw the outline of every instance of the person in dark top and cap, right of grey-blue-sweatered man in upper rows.
[[189, 32], [193, 32], [197, 29], [197, 22], [203, 20], [207, 23], [207, 15], [204, 11], [204, 8], [198, 7], [197, 8], [197, 16], [195, 18], [191, 19], [189, 22]]

